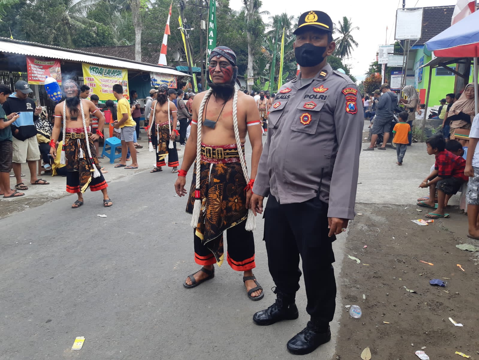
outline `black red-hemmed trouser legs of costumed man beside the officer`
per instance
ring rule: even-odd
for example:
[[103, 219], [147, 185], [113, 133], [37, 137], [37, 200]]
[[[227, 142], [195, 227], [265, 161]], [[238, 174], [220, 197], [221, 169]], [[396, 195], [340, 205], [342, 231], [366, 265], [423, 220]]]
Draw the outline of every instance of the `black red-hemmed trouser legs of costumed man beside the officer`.
[[[228, 243], [226, 260], [229, 266], [236, 271], [248, 271], [256, 267], [253, 232], [246, 231], [245, 226], [246, 221], [242, 221], [226, 230], [226, 241]], [[201, 243], [201, 239], [196, 235], [194, 235], [194, 261], [199, 265], [216, 264], [213, 253]]]

